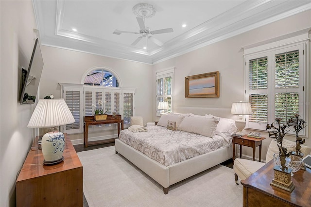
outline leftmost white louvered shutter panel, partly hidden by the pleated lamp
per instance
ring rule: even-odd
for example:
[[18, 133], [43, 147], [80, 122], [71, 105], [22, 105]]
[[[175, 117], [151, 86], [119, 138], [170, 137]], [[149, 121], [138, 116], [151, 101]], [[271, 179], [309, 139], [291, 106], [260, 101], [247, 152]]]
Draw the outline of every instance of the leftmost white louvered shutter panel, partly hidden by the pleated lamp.
[[63, 126], [63, 132], [68, 134], [83, 132], [82, 127], [82, 88], [81, 87], [63, 87], [63, 94], [66, 104], [75, 120], [74, 123]]

